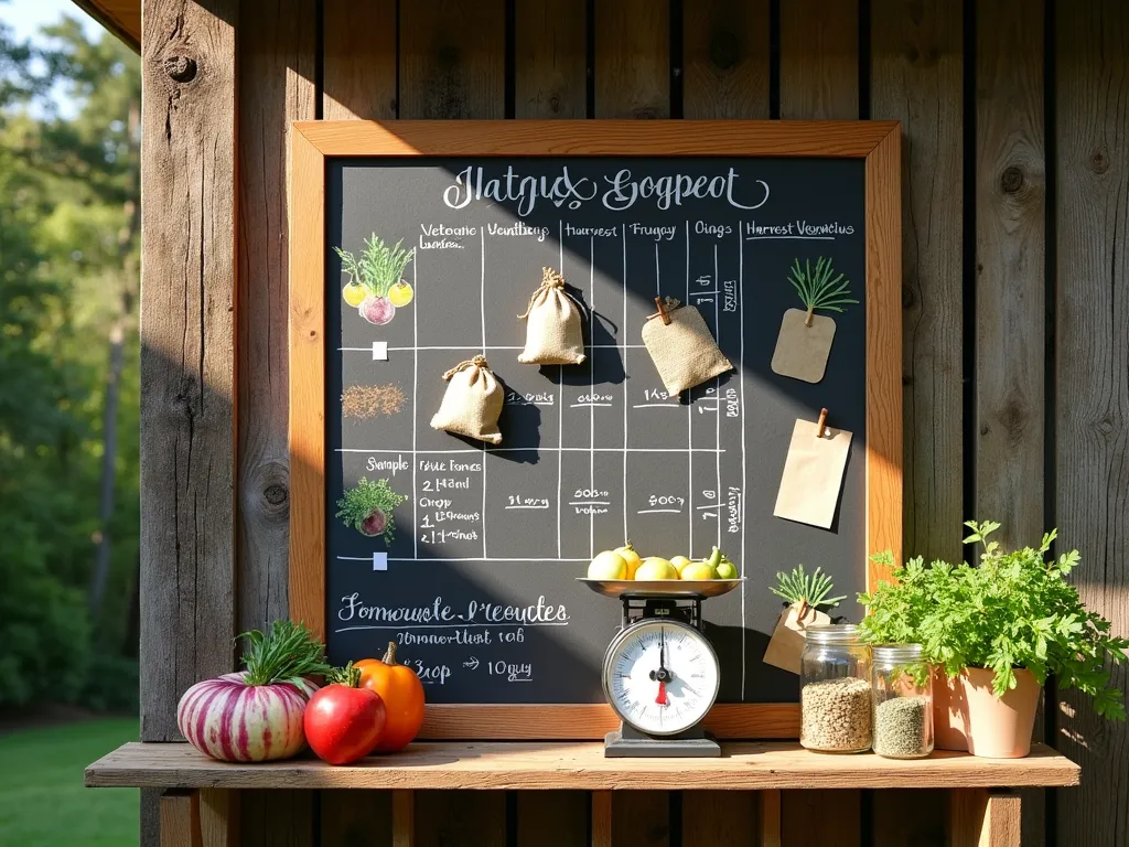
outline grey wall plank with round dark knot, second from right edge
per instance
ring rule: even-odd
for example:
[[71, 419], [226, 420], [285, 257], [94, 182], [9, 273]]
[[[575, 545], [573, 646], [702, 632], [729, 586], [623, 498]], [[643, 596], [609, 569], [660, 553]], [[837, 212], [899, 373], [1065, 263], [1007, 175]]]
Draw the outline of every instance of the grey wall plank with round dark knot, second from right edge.
[[1043, 531], [1043, 5], [977, 15], [975, 516], [1030, 544]]

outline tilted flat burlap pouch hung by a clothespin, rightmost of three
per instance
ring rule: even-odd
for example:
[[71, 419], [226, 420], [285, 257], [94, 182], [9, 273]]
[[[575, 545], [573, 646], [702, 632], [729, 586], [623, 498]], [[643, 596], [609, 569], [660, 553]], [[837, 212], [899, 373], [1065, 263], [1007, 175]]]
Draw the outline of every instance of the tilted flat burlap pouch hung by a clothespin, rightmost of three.
[[650, 315], [642, 342], [672, 396], [733, 369], [697, 308], [667, 297], [663, 311], [671, 323], [663, 323], [662, 312]]

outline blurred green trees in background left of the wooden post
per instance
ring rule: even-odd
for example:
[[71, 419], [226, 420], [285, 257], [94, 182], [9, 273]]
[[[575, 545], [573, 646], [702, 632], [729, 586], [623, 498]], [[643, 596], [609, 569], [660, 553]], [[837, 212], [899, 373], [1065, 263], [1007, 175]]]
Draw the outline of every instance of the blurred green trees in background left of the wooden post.
[[140, 72], [76, 20], [44, 36], [16, 44], [0, 25], [0, 706], [125, 708]]

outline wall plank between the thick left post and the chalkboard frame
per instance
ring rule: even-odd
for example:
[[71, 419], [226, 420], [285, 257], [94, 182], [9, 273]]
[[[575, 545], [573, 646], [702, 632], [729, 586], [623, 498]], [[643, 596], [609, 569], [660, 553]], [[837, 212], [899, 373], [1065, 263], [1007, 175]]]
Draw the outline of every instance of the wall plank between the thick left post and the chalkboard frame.
[[244, 0], [239, 33], [238, 629], [287, 617], [289, 456], [287, 161], [314, 117], [314, 0]]

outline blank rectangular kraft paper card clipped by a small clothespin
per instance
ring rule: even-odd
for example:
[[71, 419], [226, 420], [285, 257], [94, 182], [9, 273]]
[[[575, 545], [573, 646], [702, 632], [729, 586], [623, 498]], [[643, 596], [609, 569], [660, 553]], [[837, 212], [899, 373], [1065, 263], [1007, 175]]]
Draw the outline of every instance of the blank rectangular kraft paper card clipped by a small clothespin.
[[851, 434], [824, 426], [821, 437], [815, 434], [817, 426], [814, 420], [796, 421], [772, 514], [830, 530], [835, 519]]

